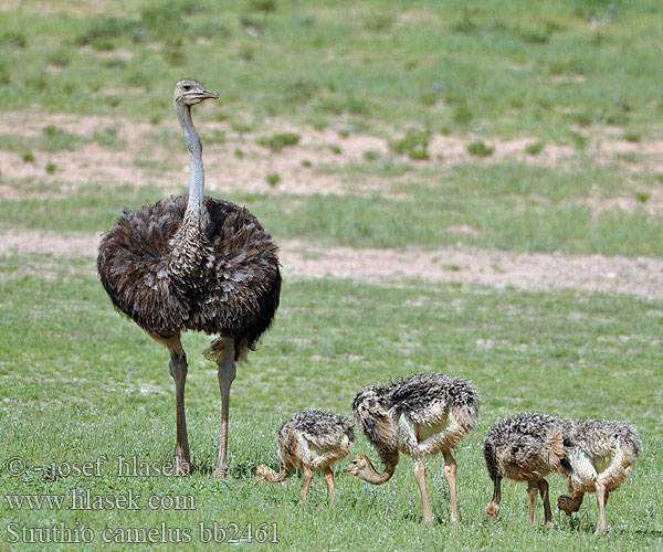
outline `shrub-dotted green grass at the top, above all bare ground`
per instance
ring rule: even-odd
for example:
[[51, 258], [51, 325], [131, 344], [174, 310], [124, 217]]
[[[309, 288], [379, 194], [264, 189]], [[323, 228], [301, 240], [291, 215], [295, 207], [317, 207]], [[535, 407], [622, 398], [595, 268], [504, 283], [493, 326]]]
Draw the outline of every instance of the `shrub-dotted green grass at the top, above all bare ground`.
[[[663, 109], [653, 92], [663, 68], [659, 4], [612, 3], [601, 26], [589, 18], [601, 19], [607, 4], [578, 0], [306, 0], [269, 10], [236, 0], [118, 0], [105, 14], [28, 4], [0, 13], [3, 28], [21, 29], [0, 39], [0, 108], [149, 119], [168, 108], [168, 91], [186, 73], [219, 88], [227, 112], [257, 118], [350, 115], [551, 141], [578, 120], [654, 130]], [[131, 59], [114, 57], [120, 50]], [[49, 73], [50, 64], [60, 71]], [[569, 78], [578, 76], [582, 83]]]

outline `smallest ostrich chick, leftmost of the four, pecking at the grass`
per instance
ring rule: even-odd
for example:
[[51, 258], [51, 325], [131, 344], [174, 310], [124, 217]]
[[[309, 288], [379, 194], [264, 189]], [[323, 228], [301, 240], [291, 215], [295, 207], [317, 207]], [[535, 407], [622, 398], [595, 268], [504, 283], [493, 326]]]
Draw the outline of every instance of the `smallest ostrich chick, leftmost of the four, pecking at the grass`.
[[355, 422], [349, 417], [332, 412], [306, 408], [286, 420], [276, 432], [281, 473], [261, 464], [255, 469], [255, 482], [263, 479], [281, 482], [293, 468], [304, 471], [299, 506], [308, 492], [313, 471], [322, 469], [329, 493], [329, 505], [334, 503], [334, 471], [332, 464], [350, 454], [355, 435]]

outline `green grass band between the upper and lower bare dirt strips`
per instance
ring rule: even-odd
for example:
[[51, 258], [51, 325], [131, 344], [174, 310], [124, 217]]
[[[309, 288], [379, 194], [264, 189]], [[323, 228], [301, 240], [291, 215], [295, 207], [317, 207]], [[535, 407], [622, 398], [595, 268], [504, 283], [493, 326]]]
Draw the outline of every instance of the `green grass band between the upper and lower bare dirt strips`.
[[[398, 166], [366, 163], [330, 171], [347, 171], [352, 178], [398, 174]], [[324, 170], [324, 169], [319, 169]], [[602, 253], [606, 255], [663, 255], [663, 217], [641, 208], [618, 208], [593, 213], [580, 200], [648, 193], [660, 185], [649, 174], [633, 174], [624, 190], [624, 174], [612, 167], [581, 160], [566, 171], [525, 163], [449, 169], [402, 167], [403, 176], [391, 191], [381, 193], [294, 195], [288, 193], [223, 194], [248, 205], [277, 238], [304, 237], [326, 244], [356, 247], [401, 247], [456, 244], [543, 253]], [[274, 177], [271, 177], [273, 180]], [[429, 182], [429, 183], [424, 183]], [[25, 182], [4, 182], [25, 190]], [[46, 191], [46, 190], [43, 190]], [[182, 188], [182, 193], [187, 193]], [[109, 229], [123, 205], [135, 209], [162, 197], [155, 187], [120, 185], [108, 195], [106, 188], [87, 184], [74, 197], [43, 202], [39, 197], [6, 200], [0, 217], [6, 224], [56, 232], [103, 232]], [[465, 224], [476, 235], [448, 230]]]

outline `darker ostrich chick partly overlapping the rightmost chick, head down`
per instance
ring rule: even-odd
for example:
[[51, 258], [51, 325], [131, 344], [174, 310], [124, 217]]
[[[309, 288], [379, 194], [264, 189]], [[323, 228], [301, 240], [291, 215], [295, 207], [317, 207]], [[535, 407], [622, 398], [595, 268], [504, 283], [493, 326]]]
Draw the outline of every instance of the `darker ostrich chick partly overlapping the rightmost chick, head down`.
[[545, 414], [518, 414], [498, 420], [484, 440], [484, 458], [493, 480], [493, 498], [486, 514], [497, 517], [502, 478], [527, 481], [529, 523], [534, 522], [536, 495], [544, 501], [546, 526], [552, 527], [552, 512], [545, 477], [550, 471], [566, 473], [569, 468], [565, 445], [569, 445], [570, 420]]

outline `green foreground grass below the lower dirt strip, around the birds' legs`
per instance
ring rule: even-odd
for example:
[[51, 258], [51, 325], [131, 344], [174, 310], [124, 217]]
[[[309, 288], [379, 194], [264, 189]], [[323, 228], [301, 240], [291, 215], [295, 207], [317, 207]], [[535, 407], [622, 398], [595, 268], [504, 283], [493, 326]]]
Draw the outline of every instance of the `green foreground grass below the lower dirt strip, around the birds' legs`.
[[[185, 347], [193, 474], [122, 478], [118, 456], [171, 459], [175, 403], [166, 351], [112, 309], [93, 259], [6, 256], [0, 270], [3, 495], [66, 495], [75, 488], [117, 497], [131, 489], [145, 500], [191, 496], [196, 505], [194, 511], [17, 511], [0, 500], [6, 523], [80, 523], [97, 533], [90, 550], [102, 549], [99, 534], [106, 527], [161, 522], [189, 528], [197, 548], [201, 521], [221, 527], [277, 523], [281, 546], [291, 550], [420, 550], [441, 540], [466, 550], [646, 550], [661, 544], [663, 527], [655, 512], [663, 492], [657, 476], [663, 469], [657, 431], [663, 357], [661, 348], [652, 347], [663, 329], [660, 305], [600, 294], [498, 291], [414, 280], [377, 286], [290, 279], [272, 331], [251, 363], [239, 368], [233, 384], [231, 477], [219, 481], [210, 475], [219, 392], [213, 367], [200, 354], [208, 339], [190, 335]], [[419, 497], [407, 458], [381, 487], [337, 474], [337, 505], [330, 510], [317, 475], [303, 508], [295, 507], [298, 475], [283, 485], [252, 486], [259, 463], [275, 465], [274, 432], [288, 414], [311, 405], [348, 413], [361, 386], [423, 370], [470, 378], [481, 391], [481, 425], [455, 454], [460, 528], [446, 521], [440, 458], [428, 461], [439, 518], [431, 528], [419, 524]], [[571, 523], [556, 513], [556, 529], [528, 529], [525, 487], [511, 481], [504, 485], [499, 520], [485, 518], [491, 485], [482, 437], [498, 416], [519, 411], [628, 420], [638, 426], [643, 454], [629, 480], [611, 493], [608, 537], [591, 535], [597, 510], [589, 498]], [[360, 436], [355, 447], [376, 457]], [[6, 468], [13, 456], [33, 467], [94, 461], [99, 455], [107, 456], [101, 477], [45, 481], [31, 469], [10, 477]], [[552, 497], [565, 490], [558, 478], [549, 480]]]

